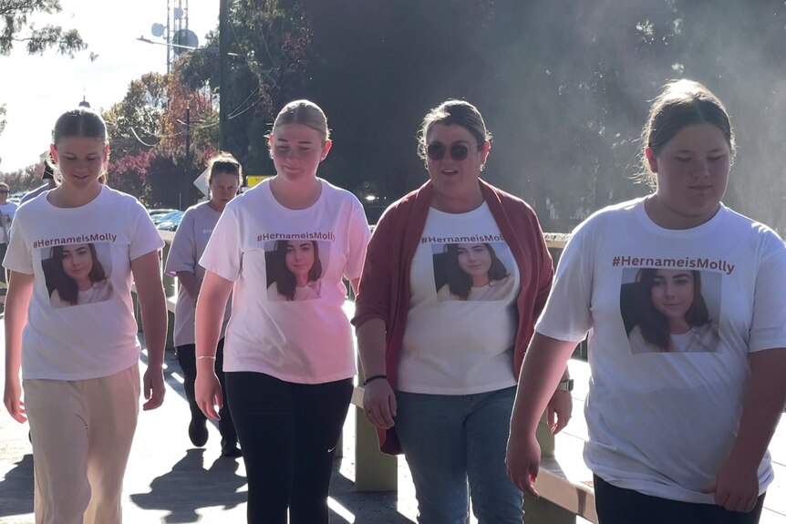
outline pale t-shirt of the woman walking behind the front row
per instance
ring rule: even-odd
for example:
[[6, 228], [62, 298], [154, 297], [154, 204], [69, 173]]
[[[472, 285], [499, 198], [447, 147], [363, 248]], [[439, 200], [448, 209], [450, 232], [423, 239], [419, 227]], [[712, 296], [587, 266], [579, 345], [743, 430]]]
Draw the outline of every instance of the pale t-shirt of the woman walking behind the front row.
[[[191, 272], [196, 279], [197, 289], [202, 287], [204, 268], [199, 265], [199, 260], [202, 258], [212, 230], [220, 217], [221, 213], [212, 209], [208, 202], [199, 203], [186, 210], [172, 241], [170, 254], [167, 256], [164, 270], [167, 274], [177, 276], [177, 272]], [[229, 322], [231, 312], [232, 307], [230, 302], [227, 302], [221, 330], [222, 337], [226, 331], [226, 324]], [[175, 306], [174, 339], [176, 346], [194, 344], [195, 314], [196, 302], [181, 286]]]

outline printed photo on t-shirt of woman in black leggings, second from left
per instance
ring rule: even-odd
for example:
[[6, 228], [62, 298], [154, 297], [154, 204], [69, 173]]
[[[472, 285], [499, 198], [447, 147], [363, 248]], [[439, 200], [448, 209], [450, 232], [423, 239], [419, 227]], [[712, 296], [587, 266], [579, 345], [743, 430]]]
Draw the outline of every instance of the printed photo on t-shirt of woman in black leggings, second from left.
[[264, 246], [267, 299], [291, 302], [319, 298], [329, 247], [326, 241], [268, 242]]

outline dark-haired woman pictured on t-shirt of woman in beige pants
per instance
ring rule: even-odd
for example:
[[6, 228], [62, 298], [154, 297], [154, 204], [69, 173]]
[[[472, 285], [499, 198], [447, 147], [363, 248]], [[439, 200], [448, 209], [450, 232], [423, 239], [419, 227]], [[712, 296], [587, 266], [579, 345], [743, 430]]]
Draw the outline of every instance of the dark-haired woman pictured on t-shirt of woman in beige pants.
[[109, 300], [112, 284], [98, 261], [96, 245], [70, 244], [52, 248], [54, 277], [50, 300], [52, 307]]

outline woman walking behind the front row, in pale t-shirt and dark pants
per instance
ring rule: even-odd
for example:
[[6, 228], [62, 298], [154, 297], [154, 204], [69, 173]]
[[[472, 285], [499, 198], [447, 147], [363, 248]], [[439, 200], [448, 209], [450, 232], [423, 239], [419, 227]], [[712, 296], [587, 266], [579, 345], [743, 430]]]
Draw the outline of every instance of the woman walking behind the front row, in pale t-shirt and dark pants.
[[[189, 438], [191, 444], [202, 447], [207, 442], [207, 418], [197, 406], [194, 398], [194, 382], [196, 381], [196, 344], [194, 338], [194, 314], [197, 297], [199, 297], [204, 268], [199, 265], [202, 252], [210, 240], [216, 222], [226, 204], [237, 195], [243, 178], [240, 162], [229, 153], [219, 153], [210, 159], [208, 166], [208, 187], [210, 200], [191, 206], [183, 214], [178, 231], [172, 240], [170, 254], [164, 269], [170, 275], [178, 277], [180, 288], [178, 302], [175, 306], [175, 352], [183, 371], [183, 387], [191, 408]], [[222, 336], [215, 352], [215, 373], [223, 386], [223, 334], [229, 322], [231, 307], [227, 304], [222, 324]], [[221, 420], [218, 428], [221, 433], [222, 457], [240, 457], [237, 447], [237, 433], [232, 422], [232, 414], [226, 402], [221, 409]]]

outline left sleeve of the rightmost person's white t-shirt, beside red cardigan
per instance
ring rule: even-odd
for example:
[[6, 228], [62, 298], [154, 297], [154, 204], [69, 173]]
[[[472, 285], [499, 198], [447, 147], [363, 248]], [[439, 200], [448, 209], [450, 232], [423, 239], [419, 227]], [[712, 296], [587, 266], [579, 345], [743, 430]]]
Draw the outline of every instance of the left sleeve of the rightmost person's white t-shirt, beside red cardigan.
[[566, 342], [581, 342], [593, 327], [593, 262], [586, 228], [574, 231], [557, 264], [552, 292], [535, 331]]

